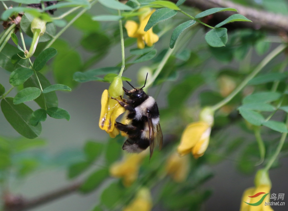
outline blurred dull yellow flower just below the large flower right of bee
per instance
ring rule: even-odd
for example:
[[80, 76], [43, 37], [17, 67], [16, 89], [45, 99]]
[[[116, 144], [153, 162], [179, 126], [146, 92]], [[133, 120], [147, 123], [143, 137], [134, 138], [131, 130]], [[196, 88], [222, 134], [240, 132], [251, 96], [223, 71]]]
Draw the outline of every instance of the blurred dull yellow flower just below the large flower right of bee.
[[181, 183], [187, 179], [189, 170], [190, 162], [188, 156], [181, 157], [178, 153], [173, 153], [166, 161], [166, 172], [177, 183]]

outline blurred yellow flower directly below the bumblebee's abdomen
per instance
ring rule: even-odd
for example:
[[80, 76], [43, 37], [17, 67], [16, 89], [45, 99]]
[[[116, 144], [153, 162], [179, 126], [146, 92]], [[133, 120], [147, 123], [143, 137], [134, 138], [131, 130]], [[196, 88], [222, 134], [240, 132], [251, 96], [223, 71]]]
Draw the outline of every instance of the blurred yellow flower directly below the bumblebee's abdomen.
[[113, 177], [123, 178], [123, 184], [128, 187], [137, 179], [140, 164], [147, 155], [147, 150], [139, 154], [125, 154], [122, 161], [117, 161], [110, 166]]

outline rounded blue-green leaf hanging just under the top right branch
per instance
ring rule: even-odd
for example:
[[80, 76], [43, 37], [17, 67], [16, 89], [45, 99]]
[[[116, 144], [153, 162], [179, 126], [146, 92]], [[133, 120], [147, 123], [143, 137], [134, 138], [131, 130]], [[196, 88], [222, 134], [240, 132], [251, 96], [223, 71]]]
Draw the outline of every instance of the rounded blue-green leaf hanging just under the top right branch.
[[228, 41], [227, 28], [215, 28], [205, 35], [206, 42], [212, 47], [225, 46]]

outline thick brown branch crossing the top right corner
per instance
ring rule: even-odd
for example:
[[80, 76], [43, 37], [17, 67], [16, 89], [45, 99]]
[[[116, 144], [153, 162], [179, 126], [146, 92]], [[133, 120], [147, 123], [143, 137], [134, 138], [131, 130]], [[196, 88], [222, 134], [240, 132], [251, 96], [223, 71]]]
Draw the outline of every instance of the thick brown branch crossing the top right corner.
[[[176, 3], [178, 0], [170, 0]], [[187, 0], [185, 5], [191, 7], [197, 7], [200, 10], [211, 9], [214, 7], [232, 7], [238, 10], [238, 14], [244, 15], [246, 18], [253, 22], [234, 22], [233, 27], [235, 28], [253, 28], [253, 29], [265, 29], [278, 33], [281, 31], [288, 32], [288, 16], [274, 14], [259, 10], [251, 7], [245, 7], [240, 4], [233, 3], [231, 1], [224, 0]], [[218, 22], [221, 22], [235, 14], [235, 12], [221, 12], [213, 15]]]

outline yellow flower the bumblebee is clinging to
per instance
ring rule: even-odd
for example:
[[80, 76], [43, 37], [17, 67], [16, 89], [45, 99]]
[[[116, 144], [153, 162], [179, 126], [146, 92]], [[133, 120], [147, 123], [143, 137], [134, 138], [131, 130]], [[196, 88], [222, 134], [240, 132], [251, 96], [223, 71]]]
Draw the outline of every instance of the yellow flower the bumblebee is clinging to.
[[109, 89], [104, 90], [101, 98], [99, 127], [109, 133], [111, 138], [115, 138], [115, 136], [119, 134], [119, 130], [114, 127], [115, 121], [116, 118], [125, 111], [124, 107], [122, 107], [117, 100], [111, 99], [111, 97], [121, 100], [120, 96], [124, 94], [122, 87], [121, 77], [115, 77]]

